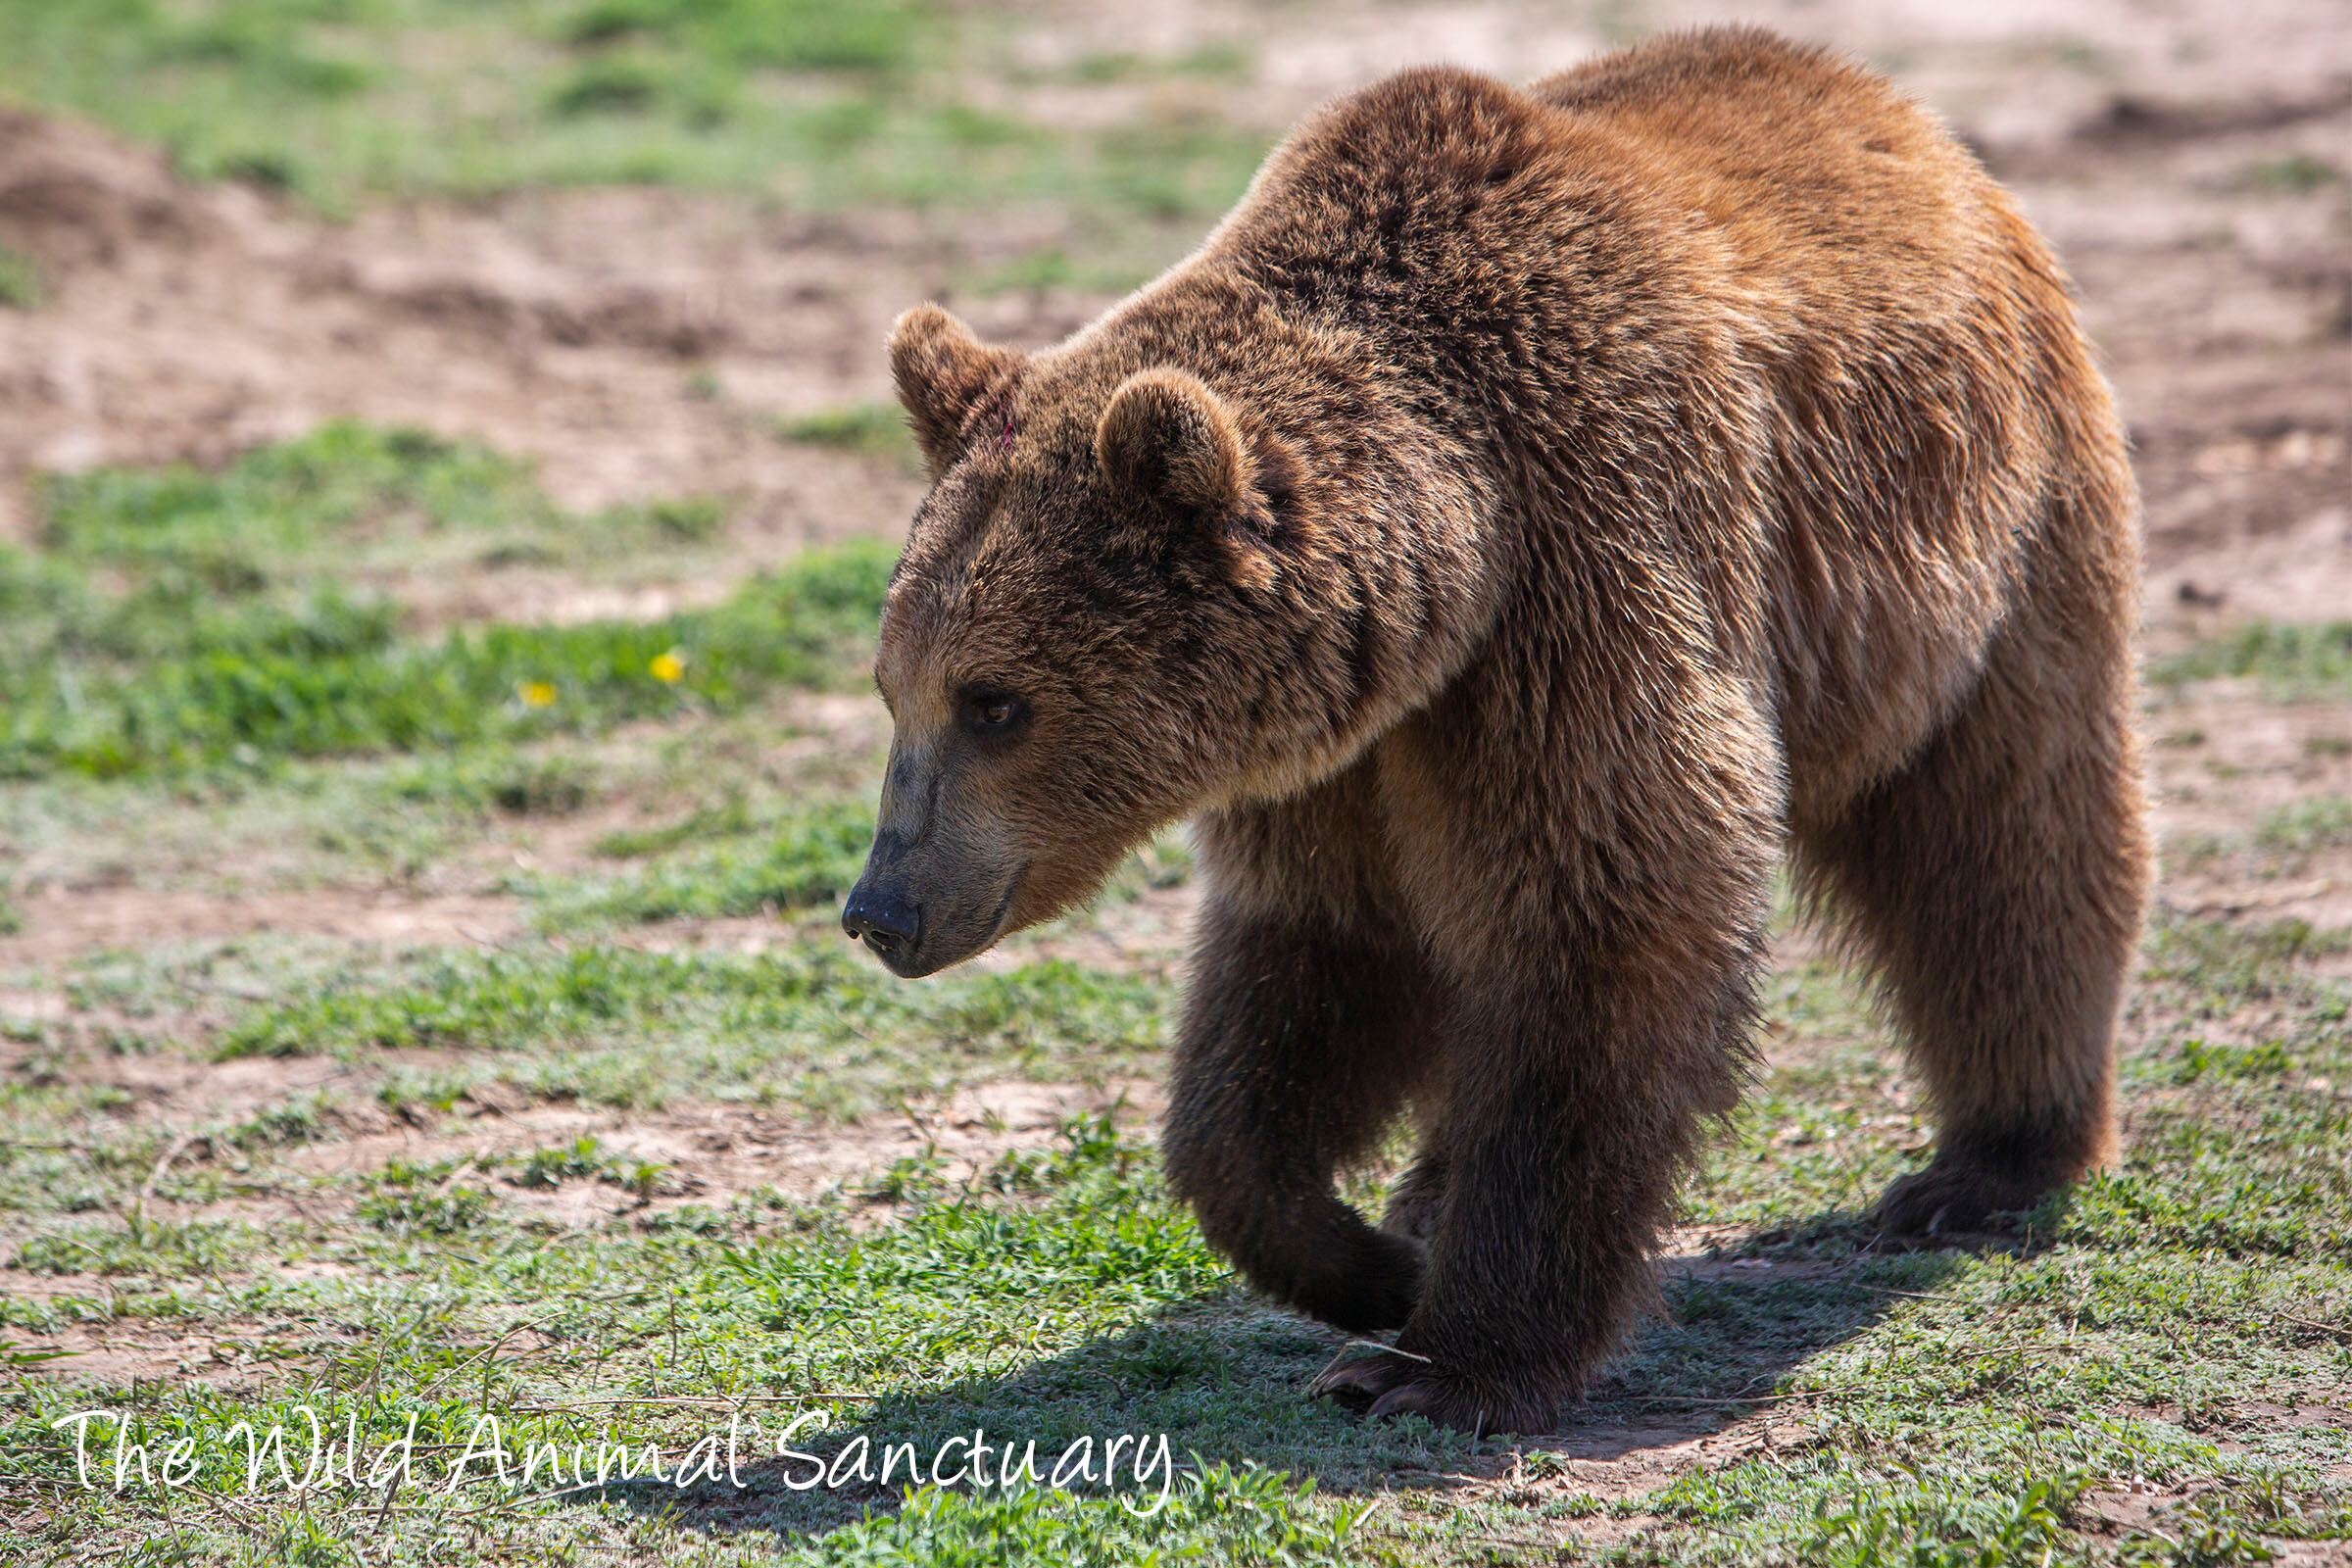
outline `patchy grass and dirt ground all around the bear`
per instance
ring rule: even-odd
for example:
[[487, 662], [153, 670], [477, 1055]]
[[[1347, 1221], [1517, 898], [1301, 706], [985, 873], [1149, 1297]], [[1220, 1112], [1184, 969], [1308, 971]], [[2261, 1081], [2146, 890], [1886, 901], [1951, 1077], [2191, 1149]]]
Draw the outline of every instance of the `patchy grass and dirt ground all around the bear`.
[[[1705, 21], [1940, 110], [2119, 388], [2126, 1159], [2030, 1255], [1870, 1255], [1929, 1124], [1783, 919], [1759, 1091], [1576, 1425], [1367, 1429], [1152, 1175], [1181, 835], [953, 976], [844, 950], [922, 489], [882, 339], [1051, 343], [1390, 68]], [[0, 1556], [2343, 1561], [2347, 179], [2345, 0], [0, 0]], [[89, 1495], [49, 1427], [572, 1399], [1235, 1467], [1152, 1526], [769, 1486], [405, 1537]]]

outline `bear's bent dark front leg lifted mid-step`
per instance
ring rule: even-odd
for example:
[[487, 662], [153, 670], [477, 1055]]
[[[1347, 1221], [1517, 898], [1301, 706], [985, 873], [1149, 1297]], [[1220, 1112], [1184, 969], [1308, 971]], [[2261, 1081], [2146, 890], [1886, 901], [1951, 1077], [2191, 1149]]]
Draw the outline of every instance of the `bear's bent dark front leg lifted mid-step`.
[[1435, 1051], [1404, 943], [1317, 919], [1202, 910], [1164, 1159], [1209, 1244], [1268, 1295], [1352, 1333], [1397, 1328], [1423, 1246], [1374, 1229], [1334, 1175], [1402, 1110]]

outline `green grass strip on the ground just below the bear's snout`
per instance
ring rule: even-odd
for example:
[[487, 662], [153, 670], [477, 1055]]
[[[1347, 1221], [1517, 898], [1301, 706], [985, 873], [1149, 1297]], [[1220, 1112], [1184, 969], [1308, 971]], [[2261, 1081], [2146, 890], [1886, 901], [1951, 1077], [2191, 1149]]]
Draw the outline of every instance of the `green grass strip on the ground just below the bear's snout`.
[[[169, 973], [155, 978], [169, 990]], [[891, 980], [840, 940], [769, 952], [419, 952], [381, 978], [320, 973], [214, 1051], [459, 1051], [461, 1077], [595, 1105], [724, 1098], [854, 1117], [971, 1077], [1131, 1072], [1167, 987], [1065, 961]]]

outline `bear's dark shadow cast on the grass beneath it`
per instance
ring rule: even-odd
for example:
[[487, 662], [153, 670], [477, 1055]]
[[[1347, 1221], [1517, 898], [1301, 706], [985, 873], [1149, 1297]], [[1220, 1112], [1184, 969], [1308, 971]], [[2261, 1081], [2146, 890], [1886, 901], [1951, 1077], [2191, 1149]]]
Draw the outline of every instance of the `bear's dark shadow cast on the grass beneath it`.
[[[1820, 1222], [1851, 1227], [1851, 1215], [1823, 1215]], [[1345, 1335], [1240, 1298], [1214, 1298], [1167, 1307], [1122, 1333], [1023, 1361], [1004, 1375], [882, 1394], [856, 1420], [804, 1429], [790, 1448], [826, 1465], [842, 1460], [849, 1469], [863, 1453], [873, 1476], [884, 1448], [913, 1443], [929, 1467], [948, 1439], [978, 1429], [990, 1446], [1035, 1441], [1037, 1469], [1049, 1472], [1080, 1436], [1094, 1436], [1101, 1455], [1110, 1436], [1164, 1434], [1178, 1467], [1254, 1462], [1341, 1495], [1463, 1486], [1508, 1472], [1524, 1453], [1637, 1460], [1644, 1450], [1693, 1443], [1771, 1410], [1783, 1373], [1867, 1331], [1905, 1291], [1933, 1288], [1957, 1262], [1957, 1253], [1915, 1253], [1900, 1267], [1898, 1291], [1863, 1279], [1872, 1269], [1867, 1255], [1663, 1258], [1665, 1309], [1642, 1319], [1592, 1392], [1569, 1406], [1548, 1436], [1472, 1441], [1418, 1420], [1362, 1422], [1305, 1394], [1315, 1373], [1348, 1347]], [[684, 1493], [616, 1486], [583, 1493], [583, 1500], [602, 1495], [710, 1533], [767, 1533], [779, 1544], [898, 1509], [903, 1467], [887, 1486], [851, 1479], [835, 1488], [809, 1486], [811, 1458], [769, 1458], [793, 1408], [781, 1410], [764, 1408], [762, 1432], [743, 1443], [741, 1486]], [[1124, 1453], [1120, 1490], [1155, 1493], [1157, 1472], [1138, 1483], [1134, 1450]], [[953, 1450], [953, 1460], [964, 1458]], [[1658, 1474], [1649, 1483], [1665, 1479]]]

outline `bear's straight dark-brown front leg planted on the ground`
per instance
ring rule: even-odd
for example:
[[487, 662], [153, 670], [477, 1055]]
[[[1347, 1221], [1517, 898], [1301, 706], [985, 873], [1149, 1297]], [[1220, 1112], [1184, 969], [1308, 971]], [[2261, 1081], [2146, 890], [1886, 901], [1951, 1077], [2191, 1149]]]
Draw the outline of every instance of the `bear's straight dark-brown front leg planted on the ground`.
[[1559, 973], [1470, 1023], [1435, 1128], [1444, 1187], [1395, 1352], [1315, 1392], [1465, 1432], [1550, 1432], [1651, 1288], [1708, 1112], [1738, 1077], [1745, 959], [1715, 973]]

